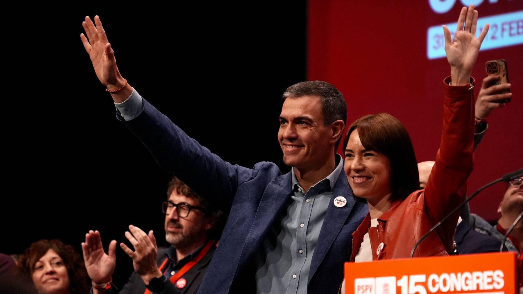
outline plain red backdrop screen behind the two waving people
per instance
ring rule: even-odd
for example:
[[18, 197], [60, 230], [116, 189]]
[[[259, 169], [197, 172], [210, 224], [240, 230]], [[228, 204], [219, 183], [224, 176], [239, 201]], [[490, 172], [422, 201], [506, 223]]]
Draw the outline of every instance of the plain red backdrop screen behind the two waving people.
[[[475, 1], [480, 3], [480, 19], [523, 9], [523, 1], [491, 1]], [[436, 155], [441, 134], [442, 80], [450, 74], [445, 57], [428, 59], [427, 29], [455, 22], [462, 7], [459, 0], [454, 5], [452, 0], [432, 2], [451, 8], [436, 13], [429, 1], [372, 5], [368, 1], [310, 0], [308, 6], [308, 79], [328, 81], [342, 91], [348, 124], [368, 113], [396, 116], [411, 135], [418, 161], [434, 160]], [[522, 30], [513, 28], [511, 36], [521, 40]], [[491, 29], [486, 38], [492, 38], [493, 32]], [[489, 128], [475, 152], [470, 192], [523, 166], [521, 56], [521, 42], [484, 50], [473, 70], [477, 96], [486, 76], [485, 62], [505, 59], [514, 95], [512, 102], [488, 117]], [[342, 153], [341, 148], [338, 151]], [[487, 189], [471, 202], [471, 210], [487, 220], [497, 219], [504, 191], [503, 184]]]

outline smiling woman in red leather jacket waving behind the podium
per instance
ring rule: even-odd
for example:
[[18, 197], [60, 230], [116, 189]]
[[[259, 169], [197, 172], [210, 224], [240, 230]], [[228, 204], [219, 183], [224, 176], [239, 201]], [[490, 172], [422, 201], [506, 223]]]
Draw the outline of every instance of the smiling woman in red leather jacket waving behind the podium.
[[[410, 257], [416, 242], [465, 198], [472, 172], [474, 133], [472, 67], [488, 25], [475, 37], [477, 11], [463, 7], [451, 41], [444, 26], [451, 76], [444, 80], [444, 121], [436, 163], [419, 190], [417, 161], [403, 124], [386, 113], [361, 117], [344, 140], [345, 172], [369, 214], [353, 233], [350, 261]], [[472, 81], [471, 81], [472, 80]], [[448, 255], [458, 221], [454, 215], [416, 248], [414, 256]]]

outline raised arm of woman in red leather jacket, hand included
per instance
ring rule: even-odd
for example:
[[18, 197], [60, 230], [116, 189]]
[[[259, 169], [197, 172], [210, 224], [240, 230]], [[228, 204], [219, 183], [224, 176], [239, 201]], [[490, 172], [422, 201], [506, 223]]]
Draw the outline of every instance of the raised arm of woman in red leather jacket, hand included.
[[[451, 67], [451, 76], [445, 79], [444, 120], [436, 163], [424, 191], [424, 209], [434, 223], [441, 220], [463, 201], [466, 181], [472, 172], [474, 110], [471, 73], [480, 45], [488, 31], [488, 24], [475, 37], [477, 11], [474, 5], [463, 7], [458, 19], [458, 30], [451, 40], [444, 26], [445, 51]], [[440, 239], [452, 249], [452, 236], [458, 214], [438, 229]]]

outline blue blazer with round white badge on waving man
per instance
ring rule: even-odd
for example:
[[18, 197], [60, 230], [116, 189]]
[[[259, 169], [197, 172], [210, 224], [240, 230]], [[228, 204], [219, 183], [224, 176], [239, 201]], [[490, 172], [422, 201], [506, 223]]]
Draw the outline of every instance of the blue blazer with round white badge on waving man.
[[[229, 214], [220, 244], [198, 293], [250, 293], [255, 291], [255, 253], [267, 232], [280, 221], [292, 193], [291, 173], [281, 174], [272, 162], [253, 169], [233, 165], [212, 154], [187, 136], [167, 116], [143, 100], [139, 116], [123, 121], [154, 156], [160, 167], [176, 175], [198, 195]], [[334, 198], [344, 196], [344, 207]], [[339, 174], [327, 207], [309, 272], [309, 293], [337, 293], [343, 280], [343, 263], [352, 252], [353, 233], [368, 213], [355, 202], [344, 172]]]

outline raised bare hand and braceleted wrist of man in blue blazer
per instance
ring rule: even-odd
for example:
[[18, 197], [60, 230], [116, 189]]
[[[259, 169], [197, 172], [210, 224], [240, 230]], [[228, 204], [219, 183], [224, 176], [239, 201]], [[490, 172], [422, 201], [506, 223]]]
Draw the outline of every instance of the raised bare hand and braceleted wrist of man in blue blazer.
[[96, 76], [111, 93], [112, 100], [116, 103], [125, 101], [132, 92], [132, 87], [127, 80], [122, 77], [118, 66], [116, 66], [115, 51], [107, 40], [104, 27], [101, 25], [100, 18], [95, 16], [96, 26], [93, 21], [86, 16], [82, 23], [87, 38], [80, 34], [80, 39], [84, 43], [84, 48], [96, 72]]

